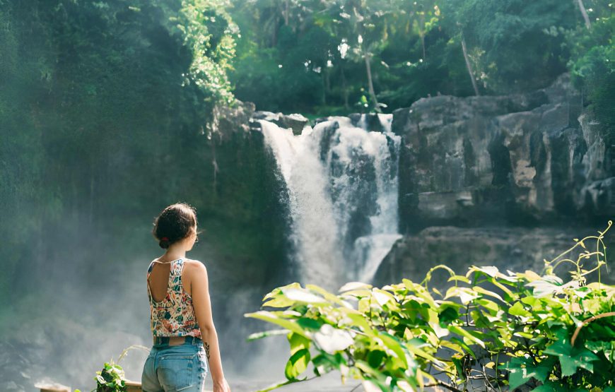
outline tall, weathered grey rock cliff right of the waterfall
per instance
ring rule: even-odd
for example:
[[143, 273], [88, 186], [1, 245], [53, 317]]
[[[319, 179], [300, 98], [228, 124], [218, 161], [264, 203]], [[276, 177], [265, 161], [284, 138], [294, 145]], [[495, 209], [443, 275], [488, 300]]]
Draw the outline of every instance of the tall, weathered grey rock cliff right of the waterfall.
[[400, 229], [536, 225], [615, 212], [599, 124], [563, 74], [533, 93], [423, 98], [393, 112], [402, 136]]

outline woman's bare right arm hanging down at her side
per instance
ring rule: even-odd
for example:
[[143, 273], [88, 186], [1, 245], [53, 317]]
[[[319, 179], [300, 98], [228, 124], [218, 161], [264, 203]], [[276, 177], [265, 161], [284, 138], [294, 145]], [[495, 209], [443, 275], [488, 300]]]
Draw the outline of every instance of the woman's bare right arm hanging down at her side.
[[191, 264], [192, 306], [197, 317], [197, 323], [201, 328], [201, 339], [207, 352], [207, 362], [209, 362], [209, 371], [213, 379], [213, 391], [230, 392], [228, 383], [224, 379], [218, 334], [216, 327], [213, 326], [213, 317], [211, 316], [207, 268], [200, 261]]

